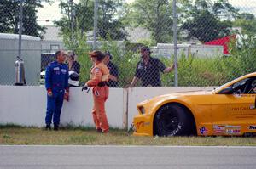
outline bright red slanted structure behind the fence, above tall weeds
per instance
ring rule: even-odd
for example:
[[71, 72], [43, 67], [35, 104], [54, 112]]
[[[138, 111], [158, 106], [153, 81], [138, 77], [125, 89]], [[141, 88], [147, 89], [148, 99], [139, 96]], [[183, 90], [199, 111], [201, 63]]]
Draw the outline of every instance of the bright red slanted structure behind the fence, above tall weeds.
[[228, 44], [229, 44], [230, 40], [232, 40], [232, 39], [236, 39], [236, 35], [222, 37], [220, 39], [216, 39], [216, 40], [213, 40], [210, 42], [205, 42], [205, 45], [223, 46], [223, 54], [230, 54]]

